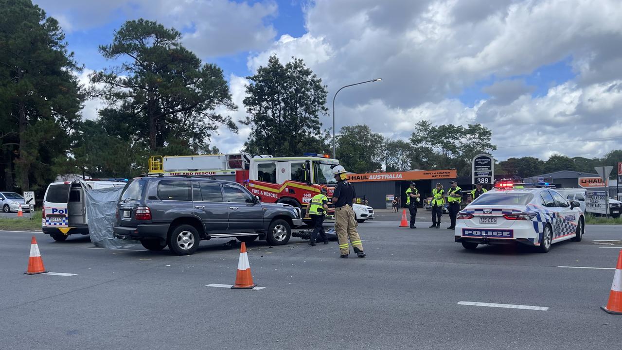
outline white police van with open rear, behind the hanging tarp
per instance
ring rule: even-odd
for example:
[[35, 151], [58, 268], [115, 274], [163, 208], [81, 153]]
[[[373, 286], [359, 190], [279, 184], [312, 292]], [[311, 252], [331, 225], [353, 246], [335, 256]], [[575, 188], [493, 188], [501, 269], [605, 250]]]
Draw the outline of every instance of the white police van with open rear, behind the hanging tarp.
[[124, 187], [126, 179], [90, 179], [53, 182], [45, 190], [42, 210], [42, 231], [54, 241], [62, 242], [70, 234], [88, 234], [86, 224], [86, 190]]

